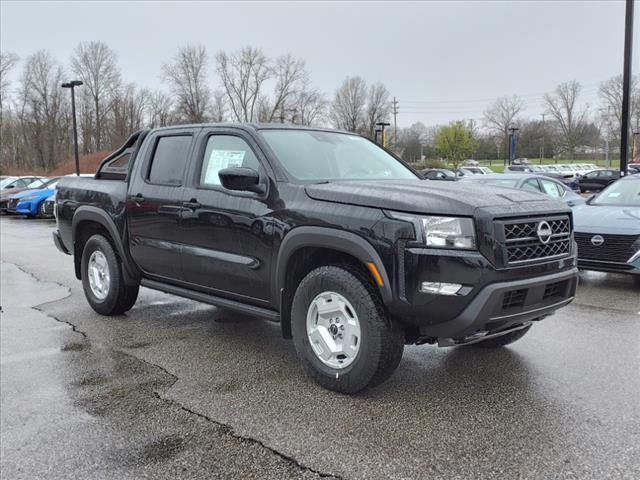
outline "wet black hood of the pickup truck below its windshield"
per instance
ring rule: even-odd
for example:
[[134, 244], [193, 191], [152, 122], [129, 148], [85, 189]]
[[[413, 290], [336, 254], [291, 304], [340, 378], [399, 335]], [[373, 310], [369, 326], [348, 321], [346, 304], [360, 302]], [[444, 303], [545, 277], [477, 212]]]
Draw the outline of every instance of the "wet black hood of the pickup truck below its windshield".
[[516, 213], [540, 210], [541, 204], [547, 210], [565, 209], [541, 193], [472, 182], [343, 181], [307, 185], [305, 190], [316, 200], [437, 215], [472, 216], [477, 208], [495, 210], [490, 207]]

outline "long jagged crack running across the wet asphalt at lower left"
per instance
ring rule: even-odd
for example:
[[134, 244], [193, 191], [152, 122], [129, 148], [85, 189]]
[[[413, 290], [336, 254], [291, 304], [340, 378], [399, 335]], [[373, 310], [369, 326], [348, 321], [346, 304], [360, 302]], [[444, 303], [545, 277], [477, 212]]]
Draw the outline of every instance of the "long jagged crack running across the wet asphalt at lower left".
[[[9, 263], [9, 262], [5, 262], [5, 263]], [[42, 313], [43, 315], [45, 315], [45, 316], [47, 316], [47, 317], [49, 317], [49, 318], [52, 318], [52, 319], [53, 319], [53, 320], [55, 320], [56, 322], [59, 322], [59, 323], [63, 323], [63, 324], [65, 324], [65, 325], [68, 325], [69, 327], [71, 327], [71, 330], [72, 330], [73, 332], [80, 334], [80, 335], [81, 335], [83, 338], [85, 338], [85, 339], [89, 339], [89, 335], [87, 334], [87, 332], [85, 332], [85, 331], [83, 331], [83, 330], [80, 330], [80, 329], [79, 329], [75, 324], [73, 324], [73, 323], [71, 323], [71, 322], [69, 322], [69, 321], [67, 321], [67, 320], [62, 320], [61, 318], [58, 318], [58, 317], [56, 317], [55, 315], [51, 315], [51, 314], [49, 314], [49, 313], [45, 312], [45, 311], [43, 310], [43, 308], [42, 308], [42, 307], [43, 307], [43, 306], [45, 306], [45, 305], [48, 305], [48, 304], [51, 304], [51, 303], [55, 303], [55, 302], [59, 302], [59, 301], [62, 301], [62, 300], [65, 300], [65, 299], [69, 298], [69, 297], [71, 296], [71, 289], [70, 289], [69, 287], [67, 287], [66, 285], [62, 285], [61, 283], [58, 283], [58, 282], [55, 282], [55, 281], [51, 281], [51, 282], [50, 282], [50, 281], [47, 281], [47, 280], [41, 280], [41, 279], [39, 279], [35, 274], [33, 274], [32, 272], [29, 272], [29, 271], [25, 270], [25, 269], [24, 269], [23, 267], [21, 267], [20, 265], [17, 265], [17, 264], [14, 264], [14, 263], [12, 263], [11, 265], [14, 265], [14, 266], [15, 266], [16, 268], [18, 268], [21, 272], [23, 272], [23, 273], [25, 273], [25, 274], [29, 275], [30, 277], [32, 277], [33, 279], [35, 279], [35, 280], [36, 280], [36, 281], [38, 281], [38, 282], [43, 282], [43, 283], [53, 283], [53, 284], [55, 284], [55, 285], [58, 285], [58, 286], [60, 286], [60, 287], [62, 287], [62, 288], [64, 288], [64, 289], [66, 289], [66, 290], [67, 290], [67, 295], [66, 295], [66, 296], [61, 297], [61, 298], [59, 298], [59, 299], [57, 299], [57, 300], [50, 300], [50, 301], [44, 302], [44, 303], [41, 303], [41, 304], [38, 304], [38, 305], [32, 306], [32, 307], [30, 307], [30, 308], [33, 308], [34, 310], [37, 310], [38, 312]], [[121, 354], [126, 355], [126, 356], [128, 356], [128, 357], [131, 357], [131, 358], [133, 358], [133, 359], [135, 359], [135, 360], [137, 360], [137, 361], [140, 361], [140, 362], [142, 362], [142, 363], [144, 363], [144, 364], [146, 364], [146, 365], [148, 365], [148, 366], [150, 366], [150, 367], [157, 368], [157, 369], [161, 370], [164, 374], [166, 374], [166, 375], [168, 375], [169, 377], [171, 377], [171, 378], [173, 379], [173, 382], [172, 382], [172, 383], [171, 383], [171, 385], [166, 389], [165, 393], [166, 393], [166, 392], [168, 392], [169, 390], [171, 390], [171, 388], [173, 388], [173, 386], [174, 386], [174, 385], [176, 384], [176, 382], [179, 380], [178, 376], [176, 376], [176, 375], [174, 375], [173, 373], [169, 372], [166, 368], [164, 368], [164, 367], [163, 367], [163, 366], [161, 366], [161, 365], [155, 364], [155, 363], [153, 363], [153, 362], [149, 362], [148, 360], [145, 360], [144, 358], [137, 357], [136, 355], [133, 355], [132, 353], [127, 352], [126, 350], [122, 350], [122, 349], [119, 349], [119, 348], [114, 348], [114, 347], [113, 347], [113, 346], [111, 346], [111, 345], [105, 345], [105, 344], [103, 344], [103, 343], [101, 343], [101, 342], [94, 342], [94, 343], [96, 343], [96, 344], [98, 344], [98, 345], [105, 346], [105, 347], [107, 347], [108, 349], [110, 349], [110, 350], [112, 350], [112, 351], [114, 351], [114, 352], [118, 352], [118, 353], [121, 353]], [[242, 441], [242, 442], [252, 443], [252, 444], [254, 444], [254, 445], [258, 445], [258, 446], [259, 446], [259, 447], [261, 447], [261, 448], [264, 448], [265, 450], [267, 450], [267, 451], [269, 451], [269, 452], [273, 453], [274, 455], [276, 455], [276, 456], [280, 457], [280, 458], [281, 458], [282, 460], [284, 460], [285, 462], [288, 462], [289, 464], [291, 464], [291, 465], [295, 466], [296, 468], [299, 468], [300, 470], [307, 471], [307, 472], [311, 472], [311, 473], [313, 473], [313, 474], [315, 474], [315, 475], [318, 475], [320, 478], [332, 478], [332, 479], [335, 479], [335, 480], [344, 480], [344, 477], [342, 477], [342, 476], [339, 476], [339, 475], [333, 475], [333, 474], [330, 474], [330, 473], [324, 473], [324, 472], [321, 472], [321, 471], [316, 470], [316, 469], [314, 469], [314, 468], [311, 468], [311, 467], [309, 467], [309, 466], [307, 466], [307, 465], [304, 465], [303, 463], [300, 463], [298, 460], [296, 460], [294, 457], [291, 457], [291, 456], [289, 456], [289, 455], [287, 455], [287, 454], [285, 454], [285, 453], [282, 453], [282, 452], [280, 452], [280, 451], [278, 451], [278, 450], [276, 450], [276, 449], [274, 449], [274, 448], [272, 448], [272, 447], [268, 446], [267, 444], [265, 444], [265, 443], [264, 443], [263, 441], [261, 441], [261, 440], [258, 440], [258, 439], [256, 439], [256, 438], [252, 438], [252, 437], [248, 437], [248, 436], [245, 436], [245, 435], [240, 435], [240, 434], [238, 434], [238, 433], [236, 433], [236, 432], [235, 432], [235, 430], [233, 429], [233, 427], [232, 427], [231, 425], [228, 425], [228, 424], [226, 424], [226, 423], [219, 422], [219, 421], [214, 420], [214, 419], [212, 419], [211, 417], [209, 417], [209, 416], [207, 416], [207, 415], [205, 415], [205, 414], [203, 414], [203, 413], [199, 413], [199, 412], [196, 412], [195, 410], [191, 410], [190, 408], [188, 408], [188, 407], [186, 407], [186, 406], [182, 405], [180, 402], [178, 402], [178, 401], [176, 401], [176, 400], [173, 400], [173, 399], [171, 399], [171, 398], [163, 397], [163, 396], [162, 396], [159, 392], [157, 392], [157, 391], [154, 391], [154, 392], [153, 392], [153, 395], [154, 395], [154, 397], [156, 397], [158, 400], [161, 400], [161, 401], [166, 402], [166, 403], [168, 403], [168, 404], [170, 404], [170, 405], [173, 405], [173, 406], [175, 406], [175, 407], [178, 407], [178, 408], [180, 408], [181, 410], [183, 410], [184, 412], [186, 412], [186, 413], [188, 413], [188, 414], [190, 414], [190, 415], [195, 415], [195, 416], [197, 416], [197, 417], [199, 417], [199, 418], [202, 418], [203, 420], [205, 420], [205, 421], [207, 421], [207, 422], [210, 422], [210, 423], [212, 423], [212, 424], [216, 425], [217, 427], [219, 427], [219, 428], [222, 430], [222, 433], [223, 433], [223, 434], [225, 434], [225, 435], [229, 435], [229, 436], [231, 436], [232, 438], [235, 438], [235, 439], [240, 440], [240, 441]]]

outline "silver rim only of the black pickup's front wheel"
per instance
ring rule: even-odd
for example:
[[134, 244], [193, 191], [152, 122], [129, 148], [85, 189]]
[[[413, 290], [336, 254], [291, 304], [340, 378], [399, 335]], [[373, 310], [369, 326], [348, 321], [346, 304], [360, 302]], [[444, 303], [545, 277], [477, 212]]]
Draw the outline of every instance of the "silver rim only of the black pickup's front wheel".
[[322, 292], [307, 311], [307, 338], [313, 353], [325, 365], [343, 369], [351, 365], [361, 346], [360, 320], [343, 295]]

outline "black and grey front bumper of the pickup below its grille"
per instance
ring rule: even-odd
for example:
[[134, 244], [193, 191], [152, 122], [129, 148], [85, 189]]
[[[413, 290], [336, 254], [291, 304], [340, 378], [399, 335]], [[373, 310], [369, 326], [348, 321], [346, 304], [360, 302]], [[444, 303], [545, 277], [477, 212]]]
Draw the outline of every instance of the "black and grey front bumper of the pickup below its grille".
[[[570, 256], [496, 268], [479, 252], [401, 250], [392, 316], [425, 341], [461, 339], [537, 320], [571, 302], [578, 282], [575, 245]], [[420, 290], [422, 282], [464, 285], [456, 295]]]

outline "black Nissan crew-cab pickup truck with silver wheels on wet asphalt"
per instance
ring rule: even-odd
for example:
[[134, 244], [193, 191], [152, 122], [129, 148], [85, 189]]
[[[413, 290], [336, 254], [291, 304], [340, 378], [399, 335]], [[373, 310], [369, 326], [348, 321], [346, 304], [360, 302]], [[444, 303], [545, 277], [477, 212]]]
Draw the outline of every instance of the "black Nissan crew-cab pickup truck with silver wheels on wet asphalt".
[[347, 132], [192, 125], [131, 136], [65, 177], [57, 247], [93, 309], [140, 286], [279, 322], [311, 376], [357, 392], [405, 344], [500, 347], [574, 297], [571, 210], [428, 182]]

